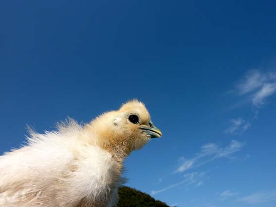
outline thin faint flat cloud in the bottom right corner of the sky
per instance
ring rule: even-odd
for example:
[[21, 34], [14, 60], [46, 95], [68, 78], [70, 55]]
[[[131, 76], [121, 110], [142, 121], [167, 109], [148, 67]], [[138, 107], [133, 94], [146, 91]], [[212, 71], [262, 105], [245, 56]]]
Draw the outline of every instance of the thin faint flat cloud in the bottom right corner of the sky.
[[239, 198], [237, 200], [241, 202], [249, 203], [249, 204], [266, 203], [270, 201], [275, 201], [276, 190], [257, 192], [257, 193]]

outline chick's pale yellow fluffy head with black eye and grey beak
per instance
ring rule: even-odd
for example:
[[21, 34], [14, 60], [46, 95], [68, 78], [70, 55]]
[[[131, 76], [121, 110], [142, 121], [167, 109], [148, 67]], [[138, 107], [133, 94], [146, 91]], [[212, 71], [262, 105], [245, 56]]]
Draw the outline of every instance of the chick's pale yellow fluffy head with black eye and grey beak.
[[127, 153], [142, 148], [151, 138], [162, 136], [152, 124], [145, 105], [137, 100], [99, 116], [92, 121], [92, 128], [102, 145], [125, 148]]

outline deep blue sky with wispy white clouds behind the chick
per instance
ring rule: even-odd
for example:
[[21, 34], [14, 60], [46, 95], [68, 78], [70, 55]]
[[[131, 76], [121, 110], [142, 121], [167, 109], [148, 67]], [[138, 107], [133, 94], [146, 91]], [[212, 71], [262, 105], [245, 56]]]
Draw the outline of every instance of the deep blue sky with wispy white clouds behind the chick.
[[0, 152], [26, 125], [89, 122], [132, 98], [163, 138], [130, 187], [178, 207], [276, 206], [274, 0], [0, 3]]

